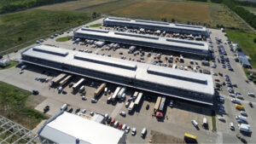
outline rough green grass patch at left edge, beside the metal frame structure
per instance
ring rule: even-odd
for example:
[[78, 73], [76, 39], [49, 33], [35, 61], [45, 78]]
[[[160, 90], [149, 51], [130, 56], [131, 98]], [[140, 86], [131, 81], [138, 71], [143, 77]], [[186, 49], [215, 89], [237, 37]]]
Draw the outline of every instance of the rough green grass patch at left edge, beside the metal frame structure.
[[31, 107], [26, 107], [29, 95], [29, 91], [0, 82], [0, 114], [32, 130], [47, 117]]

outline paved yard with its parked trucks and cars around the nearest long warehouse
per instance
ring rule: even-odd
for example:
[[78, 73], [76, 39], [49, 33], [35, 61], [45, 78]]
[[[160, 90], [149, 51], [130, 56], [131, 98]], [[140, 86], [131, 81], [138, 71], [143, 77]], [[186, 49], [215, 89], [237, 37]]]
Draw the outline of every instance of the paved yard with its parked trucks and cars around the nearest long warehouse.
[[[110, 29], [112, 31], [111, 27], [102, 26], [102, 29]], [[113, 29], [116, 30], [116, 27]], [[35, 109], [44, 112], [44, 107], [49, 106], [47, 114], [51, 116], [60, 112], [60, 107], [63, 104], [73, 107], [73, 113], [84, 109], [86, 109], [85, 113], [88, 115], [90, 112], [108, 113], [109, 117], [115, 118], [119, 123], [126, 124], [131, 129], [137, 129], [137, 135], [135, 136], [131, 135], [131, 132], [126, 134], [127, 143], [148, 143], [150, 141], [150, 130], [160, 131], [179, 138], [183, 138], [184, 133], [189, 133], [196, 135], [199, 143], [240, 143], [241, 140], [237, 138], [237, 134], [242, 134], [239, 132], [236, 121], [236, 116], [240, 115], [240, 111], [236, 109], [235, 104], [231, 101], [233, 97], [230, 97], [229, 87], [226, 83], [225, 85], [223, 84], [226, 79], [225, 75], [228, 75], [232, 84], [237, 84], [233, 89], [243, 95], [244, 100], [241, 100], [241, 105], [247, 112], [247, 123], [250, 124], [252, 131], [256, 130], [256, 124], [253, 123], [255, 116], [253, 115], [253, 107], [248, 104], [252, 102], [252, 105], [255, 106], [256, 102], [255, 97], [249, 96], [247, 93], [255, 94], [255, 85], [247, 83], [241, 64], [235, 61], [236, 56], [230, 51], [229, 44], [226, 43], [227, 37], [224, 36], [224, 32], [215, 29], [210, 29], [209, 31], [211, 33], [212, 54], [215, 55], [215, 62], [195, 55], [167, 50], [139, 46], [134, 49], [128, 44], [119, 43], [119, 48], [109, 49], [116, 43], [104, 43], [101, 47], [96, 47], [96, 44], [75, 42], [75, 40], [67, 42], [55, 41], [58, 37], [73, 36], [73, 32], [65, 32], [57, 37], [46, 39], [42, 44], [212, 75], [213, 85], [217, 93], [217, 99], [214, 99], [213, 107], [31, 64], [26, 64], [24, 70], [21, 70], [20, 67], [25, 64], [21, 64], [21, 66], [0, 71], [0, 81], [29, 91], [37, 89], [38, 96], [43, 95], [46, 100], [42, 101]], [[221, 39], [222, 43], [218, 43], [216, 37]], [[86, 40], [84, 39], [84, 41]], [[206, 40], [201, 41], [209, 42]], [[224, 68], [223, 64], [218, 62], [218, 59], [222, 59], [218, 52], [219, 45], [222, 45], [225, 49], [226, 57], [229, 58], [233, 71]], [[19, 60], [20, 51], [10, 54], [10, 58]], [[23, 72], [20, 74], [20, 71]], [[215, 86], [218, 84], [222, 85], [219, 86], [219, 89]], [[223, 95], [222, 101], [224, 102], [218, 101], [221, 99], [219, 95]], [[212, 111], [216, 113], [217, 131], [212, 130], [212, 123], [214, 123], [212, 122]], [[125, 115], [120, 112], [125, 112]], [[157, 112], [162, 112], [163, 118], [157, 118]], [[221, 118], [224, 118], [224, 121], [221, 121]], [[203, 119], [207, 119], [207, 129], [203, 126], [203, 121], [205, 121]], [[195, 120], [198, 123], [197, 128], [191, 124], [191, 120]], [[235, 130], [230, 130], [230, 123], [234, 124]], [[109, 125], [108, 123], [106, 124]], [[148, 134], [144, 138], [140, 135], [143, 128], [148, 130]], [[242, 135], [242, 138], [248, 143], [252, 143], [256, 141], [253, 135], [255, 134]]]

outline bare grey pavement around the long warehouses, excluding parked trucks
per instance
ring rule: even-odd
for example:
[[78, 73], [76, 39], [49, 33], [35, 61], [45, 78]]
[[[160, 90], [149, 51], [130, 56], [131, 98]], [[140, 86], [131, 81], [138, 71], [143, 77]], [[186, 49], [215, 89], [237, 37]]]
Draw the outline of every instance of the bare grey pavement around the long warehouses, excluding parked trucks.
[[[224, 33], [219, 30], [210, 30], [212, 32], [212, 47], [214, 49], [214, 55], [216, 57], [216, 62], [214, 62], [217, 66], [216, 68], [212, 67], [212, 61], [210, 61], [210, 66], [202, 66], [202, 59], [199, 57], [191, 57], [191, 55], [182, 55], [183, 62], [180, 60], [180, 54], [170, 52], [170, 51], [162, 51], [148, 48], [137, 47], [135, 51], [131, 54], [128, 53], [130, 45], [122, 45], [119, 44], [120, 48], [115, 50], [109, 49], [109, 45], [111, 43], [105, 43], [102, 48], [94, 48], [94, 44], [85, 43], [85, 45], [80, 43], [73, 43], [72, 40], [67, 42], [56, 42], [55, 38], [49, 38], [44, 41], [43, 44], [55, 45], [56, 47], [64, 48], [64, 49], [73, 49], [76, 51], [86, 51], [91, 52], [96, 55], [102, 56], [111, 56], [115, 58], [125, 59], [125, 60], [136, 60], [140, 62], [150, 63], [153, 65], [159, 66], [169, 66], [176, 67], [179, 69], [193, 71], [193, 72], [202, 72], [201, 70], [207, 70], [211, 72], [211, 74], [222, 72], [224, 75], [228, 74], [230, 76], [230, 80], [232, 84], [237, 84], [238, 88], [234, 88], [236, 91], [240, 91], [241, 95], [244, 95], [244, 101], [241, 101], [243, 106], [248, 113], [248, 123], [252, 126], [252, 130], [256, 130], [256, 125], [253, 124], [253, 108], [248, 106], [249, 101], [253, 101], [253, 105], [255, 106], [255, 100], [253, 97], [247, 95], [247, 92], [254, 92], [254, 85], [247, 83], [246, 76], [242, 71], [240, 63], [237, 63], [234, 59], [236, 56], [230, 51], [228, 44], [225, 44], [226, 37], [224, 37]], [[58, 37], [66, 37], [72, 36], [73, 32], [64, 33]], [[222, 39], [223, 43], [217, 44], [215, 42], [215, 37], [219, 37]], [[223, 45], [223, 48], [226, 50], [227, 57], [230, 58], [230, 65], [234, 69], [234, 71], [229, 71], [227, 68], [223, 68], [221, 63], [218, 63], [219, 53], [218, 53], [218, 45]], [[74, 49], [75, 48], [75, 49]], [[136, 54], [136, 55], [135, 55]], [[172, 62], [170, 62], [170, 57], [172, 55]], [[19, 59], [19, 53], [11, 54], [10, 57], [14, 59]], [[177, 56], [177, 57], [176, 57]], [[177, 59], [177, 61], [175, 61]], [[193, 64], [191, 62], [193, 61]], [[173, 66], [176, 65], [176, 66]], [[189, 68], [191, 67], [191, 68]], [[194, 68], [195, 67], [195, 68]], [[127, 124], [131, 128], [137, 128], [137, 135], [132, 136], [131, 132], [127, 134], [127, 143], [146, 143], [148, 142], [148, 138], [150, 137], [150, 130], [157, 130], [168, 135], [177, 136], [183, 138], [185, 132], [188, 132], [192, 135], [197, 135], [197, 139], [199, 143], [238, 143], [241, 142], [239, 139], [234, 138], [236, 134], [239, 133], [236, 116], [240, 114], [238, 110], [236, 110], [235, 105], [230, 101], [232, 97], [229, 96], [228, 87], [226, 85], [221, 86], [218, 93], [219, 95], [224, 95], [224, 111], [220, 112], [219, 107], [216, 108], [217, 112], [217, 133], [212, 132], [212, 117], [211, 117], [211, 107], [202, 107], [197, 106], [195, 103], [191, 104], [188, 102], [180, 101], [173, 99], [175, 101], [174, 107], [169, 107], [170, 99], [166, 101], [166, 107], [164, 110], [164, 118], [158, 119], [153, 116], [154, 104], [156, 101], [156, 97], [159, 95], [147, 93], [144, 91], [140, 91], [138, 89], [129, 89], [127, 88], [125, 91], [125, 101], [118, 101], [116, 104], [108, 104], [107, 99], [109, 96], [113, 95], [113, 91], [117, 86], [115, 84], [107, 84], [108, 89], [111, 90], [111, 93], [108, 95], [100, 95], [97, 99], [96, 103], [92, 103], [91, 99], [93, 98], [94, 92], [99, 87], [100, 84], [104, 83], [102, 81], [97, 81], [95, 79], [85, 78], [85, 93], [81, 95], [80, 93], [73, 94], [72, 88], [69, 88], [68, 84], [64, 87], [64, 91], [67, 91], [67, 94], [58, 94], [57, 88], [53, 89], [49, 87], [49, 83], [42, 83], [40, 81], [36, 81], [35, 78], [55, 78], [61, 72], [55, 72], [49, 69], [45, 69], [38, 66], [29, 65], [24, 73], [20, 74], [20, 68], [11, 68], [9, 70], [3, 70], [0, 72], [1, 76], [0, 80], [9, 84], [14, 84], [22, 89], [27, 89], [32, 91], [32, 89], [38, 89], [39, 95], [43, 95], [46, 97], [42, 103], [40, 103], [37, 107], [35, 107], [39, 111], [44, 111], [45, 106], [49, 106], [49, 115], [55, 115], [60, 111], [60, 107], [67, 103], [69, 107], [73, 107], [73, 113], [75, 113], [77, 108], [80, 108], [80, 111], [86, 109], [86, 114], [89, 115], [90, 112], [99, 112], [102, 114], [108, 113], [108, 115], [112, 118], [115, 118], [119, 121], [119, 123]], [[220, 82], [214, 82], [222, 84], [224, 82], [224, 77], [221, 76], [213, 76], [212, 79], [219, 79]], [[73, 76], [70, 83], [77, 83], [80, 77]], [[135, 111], [132, 114], [128, 114], [127, 107], [125, 107], [125, 102], [128, 101], [129, 97], [133, 95], [135, 91], [143, 92], [143, 101], [139, 105], [139, 107], [135, 108]], [[39, 96], [38, 95], [38, 96]], [[82, 96], [86, 97], [86, 101], [82, 100]], [[148, 99], [148, 97], [152, 97]], [[148, 110], [146, 106], [149, 106]], [[119, 112], [125, 112], [126, 116], [123, 117], [119, 115]], [[219, 121], [218, 117], [224, 117], [225, 122]], [[201, 124], [203, 118], [207, 118], [208, 130], [202, 128]], [[199, 130], [196, 130], [193, 124], [191, 124], [191, 120], [195, 119], [199, 123]], [[235, 124], [235, 130], [230, 130], [230, 122]], [[141, 138], [140, 132], [143, 128], [147, 128], [148, 134], [145, 139]], [[245, 136], [247, 142], [253, 142], [253, 135]]]

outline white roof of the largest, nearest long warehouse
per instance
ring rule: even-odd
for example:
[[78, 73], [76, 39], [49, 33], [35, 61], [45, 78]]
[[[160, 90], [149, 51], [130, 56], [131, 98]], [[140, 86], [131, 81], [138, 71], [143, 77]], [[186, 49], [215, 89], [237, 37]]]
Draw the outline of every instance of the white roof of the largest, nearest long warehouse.
[[[53, 51], [60, 49], [45, 45], [39, 45], [33, 48], [50, 48]], [[81, 69], [79, 70], [77, 68], [70, 68], [70, 70], [67, 69], [67, 72], [77, 71], [82, 72], [82, 74], [84, 74], [85, 72], [88, 72], [87, 70], [91, 70], [93, 71], [93, 73], [87, 73], [90, 74], [90, 76], [86, 74], [85, 76], [98, 78], [104, 81], [108, 81], [109, 79], [107, 79], [106, 77], [108, 75], [111, 75], [117, 78], [110, 79], [109, 81], [112, 83], [114, 83], [114, 80], [119, 81], [120, 78], [126, 78], [137, 81], [137, 84], [146, 83], [148, 84], [148, 87], [150, 86], [152, 89], [156, 90], [160, 90], [159, 85], [156, 85], [160, 84], [161, 86], [165, 86], [169, 90], [165, 92], [160, 90], [158, 91], [158, 93], [163, 93], [166, 95], [168, 95], [167, 93], [172, 92], [171, 88], [200, 93], [201, 97], [204, 97], [205, 95], [214, 95], [211, 75], [183, 71], [164, 66], [154, 66], [136, 61], [121, 60], [118, 58], [112, 58], [102, 55], [93, 55], [68, 49], [61, 49], [63, 53], [68, 53], [68, 55], [53, 55], [53, 53], [46, 53], [44, 52], [44, 50], [38, 51], [34, 50], [33, 48], [26, 49], [24, 52], [21, 53], [22, 60], [26, 62], [32, 62], [33, 64], [37, 65], [40, 64], [41, 66], [49, 66], [55, 69], [60, 69], [58, 66], [75, 66]], [[28, 57], [28, 59], [26, 59], [26, 57]], [[36, 60], [30, 59], [30, 57], [36, 58]], [[54, 65], [54, 63], [56, 63], [56, 65]], [[63, 70], [66, 69], [61, 69], [61, 71]], [[104, 74], [97, 75], [95, 72], [101, 72]], [[133, 84], [133, 86], [136, 87], [135, 84]], [[141, 87], [136, 88], [142, 89]], [[156, 90], [154, 90], [154, 92]], [[183, 95], [181, 95], [179, 98], [183, 98]], [[191, 99], [192, 100], [189, 101], [193, 101], [193, 98]]]

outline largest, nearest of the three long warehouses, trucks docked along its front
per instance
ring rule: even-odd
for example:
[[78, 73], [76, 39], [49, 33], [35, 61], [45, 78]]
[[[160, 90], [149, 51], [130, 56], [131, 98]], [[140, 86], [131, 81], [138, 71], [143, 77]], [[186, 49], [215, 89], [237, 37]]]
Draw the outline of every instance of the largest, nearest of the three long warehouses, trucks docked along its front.
[[22, 60], [61, 72], [212, 105], [212, 76], [45, 45], [28, 48]]

